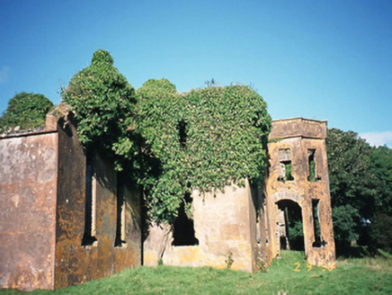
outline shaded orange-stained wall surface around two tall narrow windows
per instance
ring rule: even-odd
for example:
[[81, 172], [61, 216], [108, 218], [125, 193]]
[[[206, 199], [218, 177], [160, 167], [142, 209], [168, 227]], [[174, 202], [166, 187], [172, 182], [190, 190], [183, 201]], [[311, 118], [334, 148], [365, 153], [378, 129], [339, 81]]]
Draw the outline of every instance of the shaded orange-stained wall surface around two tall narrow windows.
[[102, 278], [140, 264], [141, 217], [138, 190], [127, 183], [125, 242], [114, 246], [117, 227], [117, 174], [102, 156], [94, 154], [96, 174], [96, 242], [82, 246], [85, 231], [86, 158], [76, 130], [59, 130], [58, 228], [55, 287]]

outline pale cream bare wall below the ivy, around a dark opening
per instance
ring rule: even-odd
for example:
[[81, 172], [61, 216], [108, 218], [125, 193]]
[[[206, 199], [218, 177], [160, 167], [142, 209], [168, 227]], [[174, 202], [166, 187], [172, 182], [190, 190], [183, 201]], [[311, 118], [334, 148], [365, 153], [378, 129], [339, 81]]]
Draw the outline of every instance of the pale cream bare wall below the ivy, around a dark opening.
[[[165, 248], [163, 264], [226, 268], [230, 256], [231, 269], [254, 272], [258, 255], [256, 217], [247, 181], [245, 187], [227, 186], [224, 192], [194, 191], [192, 212], [199, 245], [172, 246], [168, 228], [154, 227], [145, 243], [145, 264], [156, 264], [155, 259], [160, 258], [157, 252]], [[159, 246], [153, 248], [154, 244]]]

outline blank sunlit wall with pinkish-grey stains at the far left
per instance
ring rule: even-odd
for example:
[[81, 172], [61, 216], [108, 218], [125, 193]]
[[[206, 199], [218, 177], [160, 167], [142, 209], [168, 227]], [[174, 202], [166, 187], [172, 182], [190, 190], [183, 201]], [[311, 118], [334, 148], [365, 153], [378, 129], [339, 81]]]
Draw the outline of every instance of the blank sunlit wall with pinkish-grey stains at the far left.
[[0, 139], [0, 288], [53, 289], [58, 134]]

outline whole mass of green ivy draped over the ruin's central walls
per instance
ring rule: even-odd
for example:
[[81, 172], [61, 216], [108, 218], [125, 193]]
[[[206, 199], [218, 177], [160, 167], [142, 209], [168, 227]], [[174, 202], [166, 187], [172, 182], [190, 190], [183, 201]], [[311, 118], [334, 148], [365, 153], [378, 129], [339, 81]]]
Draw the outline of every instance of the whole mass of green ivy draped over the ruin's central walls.
[[194, 189], [263, 180], [272, 120], [249, 86], [179, 94], [168, 80], [152, 79], [135, 93], [109, 52], [98, 50], [71, 79], [63, 101], [74, 107], [86, 151], [100, 148], [132, 174], [157, 222], [172, 223]]

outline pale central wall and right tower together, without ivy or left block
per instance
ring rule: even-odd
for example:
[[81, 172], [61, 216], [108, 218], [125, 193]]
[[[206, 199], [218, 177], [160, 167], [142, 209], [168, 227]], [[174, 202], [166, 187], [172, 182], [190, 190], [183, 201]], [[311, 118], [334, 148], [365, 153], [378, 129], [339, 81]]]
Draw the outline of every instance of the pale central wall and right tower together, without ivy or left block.
[[[208, 265], [254, 272], [281, 249], [305, 251], [309, 264], [334, 268], [334, 234], [326, 161], [326, 122], [302, 118], [272, 122], [269, 169], [263, 187], [192, 193], [192, 219], [153, 226], [144, 262]], [[301, 240], [289, 235], [297, 222]], [[300, 235], [299, 235], [300, 236]]]

